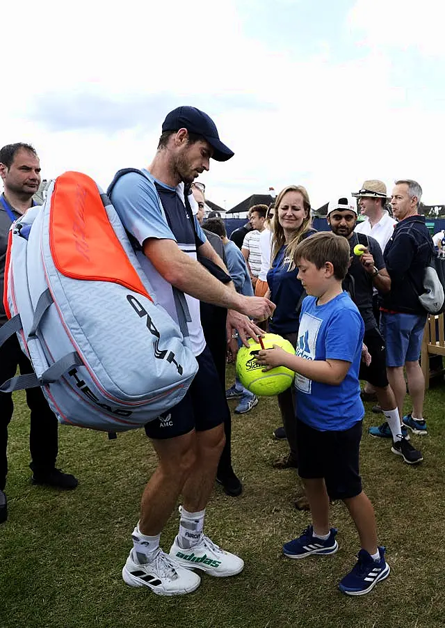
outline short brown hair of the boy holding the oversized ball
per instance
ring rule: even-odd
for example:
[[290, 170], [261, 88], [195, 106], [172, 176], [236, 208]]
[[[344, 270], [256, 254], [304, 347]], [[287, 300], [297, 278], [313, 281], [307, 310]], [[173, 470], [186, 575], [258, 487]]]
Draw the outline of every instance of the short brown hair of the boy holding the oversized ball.
[[312, 262], [318, 269], [331, 262], [334, 277], [343, 281], [350, 265], [349, 242], [346, 237], [330, 231], [314, 233], [298, 244], [294, 256], [296, 266], [300, 260]]

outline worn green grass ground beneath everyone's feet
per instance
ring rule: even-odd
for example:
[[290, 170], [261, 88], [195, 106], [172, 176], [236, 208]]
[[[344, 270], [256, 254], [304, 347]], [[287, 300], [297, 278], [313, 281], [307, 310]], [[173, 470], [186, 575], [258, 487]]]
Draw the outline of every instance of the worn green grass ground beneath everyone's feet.
[[[229, 370], [229, 383], [231, 377]], [[26, 405], [17, 395], [10, 425], [10, 515], [0, 527], [0, 627], [443, 627], [444, 401], [444, 384], [428, 391], [429, 434], [412, 437], [425, 457], [419, 467], [391, 454], [387, 441], [364, 435], [364, 489], [391, 565], [389, 579], [369, 595], [350, 598], [337, 589], [359, 549], [341, 503], [332, 506], [337, 554], [300, 561], [282, 556], [282, 543], [307, 526], [309, 514], [293, 508], [296, 474], [270, 466], [286, 448], [270, 439], [277, 403], [264, 398], [247, 416], [234, 415], [233, 459], [243, 495], [230, 498], [215, 487], [207, 508], [207, 533], [240, 554], [245, 570], [233, 579], [203, 576], [195, 593], [162, 598], [127, 587], [120, 574], [140, 495], [156, 464], [145, 434], [138, 430], [108, 441], [105, 434], [60, 428], [58, 464], [78, 476], [79, 487], [71, 493], [33, 487]], [[366, 427], [376, 418], [366, 405]], [[164, 549], [177, 524], [174, 513], [163, 533]]]

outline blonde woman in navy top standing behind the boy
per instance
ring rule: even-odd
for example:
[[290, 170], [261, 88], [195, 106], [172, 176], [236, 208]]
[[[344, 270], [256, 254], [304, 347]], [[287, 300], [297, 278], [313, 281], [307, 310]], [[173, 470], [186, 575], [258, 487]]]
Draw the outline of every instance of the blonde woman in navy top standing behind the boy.
[[[288, 185], [275, 200], [275, 217], [272, 221], [272, 265], [267, 274], [269, 290], [266, 296], [277, 306], [270, 319], [269, 331], [287, 338], [296, 346], [300, 306], [305, 295], [297, 279], [294, 260], [296, 247], [305, 237], [315, 233], [311, 221], [311, 203], [302, 185]], [[298, 466], [296, 449], [296, 418], [293, 387], [278, 395], [283, 427], [273, 432], [277, 439], [287, 438], [290, 452], [276, 460], [277, 469]]]

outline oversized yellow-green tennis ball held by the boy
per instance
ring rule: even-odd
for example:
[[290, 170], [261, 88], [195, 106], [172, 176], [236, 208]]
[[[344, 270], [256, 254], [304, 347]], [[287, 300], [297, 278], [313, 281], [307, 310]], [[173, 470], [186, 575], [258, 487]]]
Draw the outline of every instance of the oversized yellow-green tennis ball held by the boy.
[[[273, 345], [282, 347], [288, 353], [295, 355], [295, 349], [282, 336], [276, 333], [266, 333], [263, 341], [264, 349], [273, 349]], [[275, 368], [263, 372], [264, 366], [259, 364], [255, 359], [258, 352], [261, 351], [261, 345], [255, 343], [252, 338], [249, 340], [249, 348], [241, 347], [236, 356], [236, 375], [241, 384], [255, 395], [263, 397], [271, 397], [278, 395], [289, 388], [293, 382], [295, 373], [285, 366], [276, 366]]]

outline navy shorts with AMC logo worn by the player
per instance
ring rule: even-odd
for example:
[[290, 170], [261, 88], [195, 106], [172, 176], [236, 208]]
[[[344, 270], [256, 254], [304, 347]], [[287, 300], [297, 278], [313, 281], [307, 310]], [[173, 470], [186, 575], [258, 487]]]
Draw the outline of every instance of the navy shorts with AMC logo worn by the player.
[[204, 432], [224, 423], [230, 412], [209, 347], [197, 356], [199, 368], [184, 398], [145, 425], [150, 439], [171, 439], [192, 430]]

